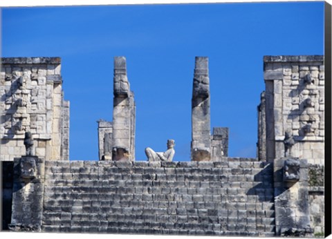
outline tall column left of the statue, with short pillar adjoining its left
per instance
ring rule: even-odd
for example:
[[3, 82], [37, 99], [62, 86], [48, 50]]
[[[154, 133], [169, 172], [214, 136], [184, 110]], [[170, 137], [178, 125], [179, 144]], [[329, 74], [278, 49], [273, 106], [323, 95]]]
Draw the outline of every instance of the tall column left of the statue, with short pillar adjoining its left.
[[135, 158], [136, 104], [127, 78], [125, 57], [114, 57], [113, 122], [98, 121], [100, 160]]

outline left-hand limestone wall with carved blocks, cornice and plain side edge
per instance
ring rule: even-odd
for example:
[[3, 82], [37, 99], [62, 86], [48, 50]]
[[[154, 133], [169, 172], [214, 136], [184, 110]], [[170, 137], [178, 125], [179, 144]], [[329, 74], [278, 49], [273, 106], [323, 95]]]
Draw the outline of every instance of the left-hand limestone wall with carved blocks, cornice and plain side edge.
[[68, 160], [69, 104], [63, 97], [60, 59], [1, 58], [0, 82], [0, 160], [25, 154], [27, 131], [37, 156]]

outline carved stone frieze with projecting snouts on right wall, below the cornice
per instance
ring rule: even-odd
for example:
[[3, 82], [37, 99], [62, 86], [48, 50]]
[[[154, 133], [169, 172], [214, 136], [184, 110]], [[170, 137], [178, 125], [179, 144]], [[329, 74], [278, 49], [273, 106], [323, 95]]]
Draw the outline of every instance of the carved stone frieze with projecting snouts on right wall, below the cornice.
[[[284, 66], [287, 68], [287, 66]], [[321, 140], [320, 121], [324, 102], [324, 88], [320, 87], [319, 79], [324, 75], [320, 66], [293, 65], [291, 79], [297, 84], [286, 84], [288, 75], [284, 69], [283, 80], [283, 115], [286, 127], [292, 128], [297, 140]], [[323, 73], [323, 74], [322, 74]], [[275, 93], [276, 94], [276, 93]], [[277, 94], [276, 94], [277, 95]], [[290, 99], [288, 102], [287, 99]], [[324, 120], [324, 119], [323, 119]]]

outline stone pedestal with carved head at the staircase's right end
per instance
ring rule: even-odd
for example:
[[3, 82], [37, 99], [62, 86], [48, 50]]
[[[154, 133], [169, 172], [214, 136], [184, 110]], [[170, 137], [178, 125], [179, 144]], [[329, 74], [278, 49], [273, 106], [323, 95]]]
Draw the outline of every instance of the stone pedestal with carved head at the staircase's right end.
[[284, 157], [273, 167], [276, 236], [312, 236], [307, 160]]

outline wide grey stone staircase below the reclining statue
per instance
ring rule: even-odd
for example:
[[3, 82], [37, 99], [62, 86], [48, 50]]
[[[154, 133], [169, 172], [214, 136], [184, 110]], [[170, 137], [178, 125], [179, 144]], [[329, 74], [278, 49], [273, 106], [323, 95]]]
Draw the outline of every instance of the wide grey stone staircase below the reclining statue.
[[42, 231], [273, 236], [271, 164], [46, 161]]

